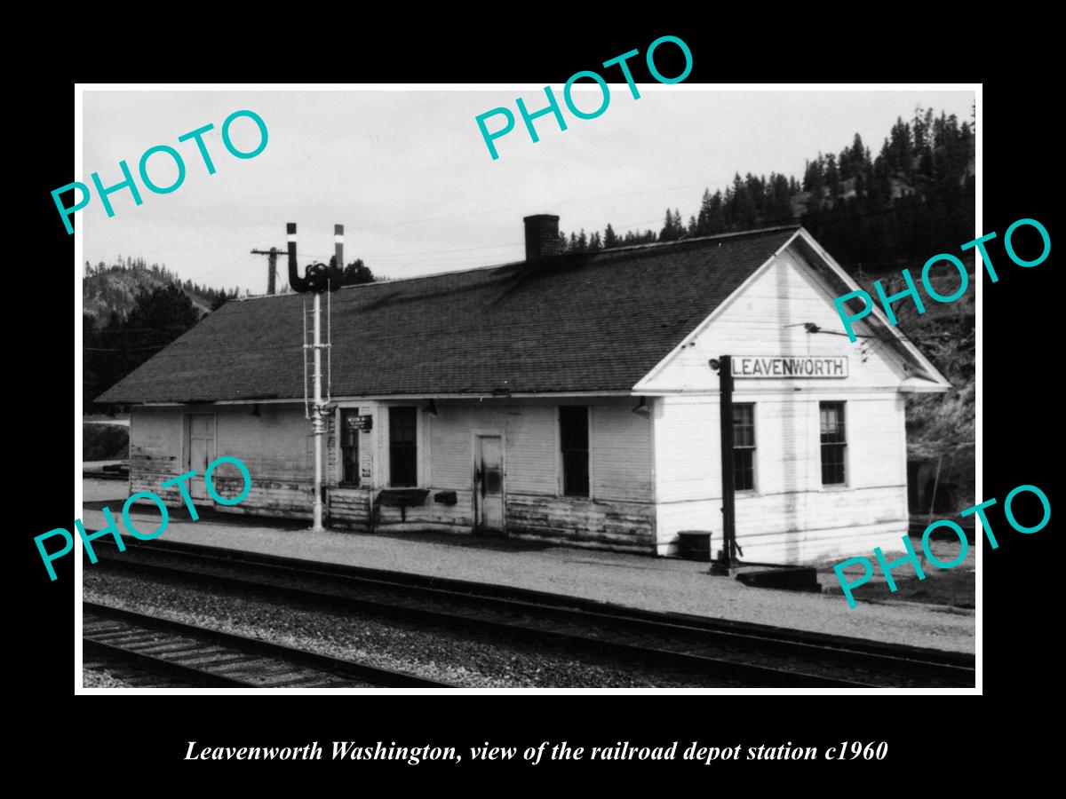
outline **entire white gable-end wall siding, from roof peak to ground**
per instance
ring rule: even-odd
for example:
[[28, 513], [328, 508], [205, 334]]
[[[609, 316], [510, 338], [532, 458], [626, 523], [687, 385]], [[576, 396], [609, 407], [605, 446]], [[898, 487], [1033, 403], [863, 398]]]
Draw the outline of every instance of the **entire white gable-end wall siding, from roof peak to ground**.
[[[733, 401], [755, 403], [755, 490], [737, 493], [737, 540], [747, 560], [797, 562], [869, 551], [907, 526], [900, 358], [875, 340], [852, 343], [835, 294], [793, 248], [725, 304], [647, 380], [655, 402], [657, 551], [682, 529], [721, 545], [721, 355], [846, 356], [839, 379], [738, 378]], [[805, 323], [828, 332], [808, 333]], [[822, 486], [819, 403], [846, 403], [846, 485]], [[891, 538], [891, 535], [888, 535]], [[897, 536], [898, 538], [898, 536]], [[898, 540], [892, 540], [893, 544]], [[868, 545], [869, 544], [869, 545]]]

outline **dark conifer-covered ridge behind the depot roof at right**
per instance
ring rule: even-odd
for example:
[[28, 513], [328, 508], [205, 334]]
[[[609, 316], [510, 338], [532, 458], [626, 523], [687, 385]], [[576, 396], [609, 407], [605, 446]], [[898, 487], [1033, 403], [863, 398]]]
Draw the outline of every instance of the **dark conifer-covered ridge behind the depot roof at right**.
[[704, 191], [685, 221], [666, 209], [662, 227], [618, 233], [583, 229], [560, 233], [564, 251], [802, 224], [846, 270], [899, 271], [972, 239], [974, 131], [955, 115], [916, 109], [900, 118], [875, 158], [856, 133], [838, 153], [818, 153], [803, 178], [771, 173], [741, 177]]

